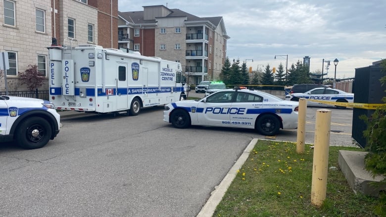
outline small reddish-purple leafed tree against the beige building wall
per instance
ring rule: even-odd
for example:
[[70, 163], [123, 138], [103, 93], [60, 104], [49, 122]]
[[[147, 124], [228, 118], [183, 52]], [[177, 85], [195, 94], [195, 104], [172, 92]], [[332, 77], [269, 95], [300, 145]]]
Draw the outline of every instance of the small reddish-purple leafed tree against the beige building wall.
[[19, 72], [19, 80], [21, 85], [27, 85], [29, 91], [34, 91], [38, 87], [42, 87], [46, 83], [46, 78], [41, 75], [37, 65], [28, 65], [28, 69], [24, 72]]

